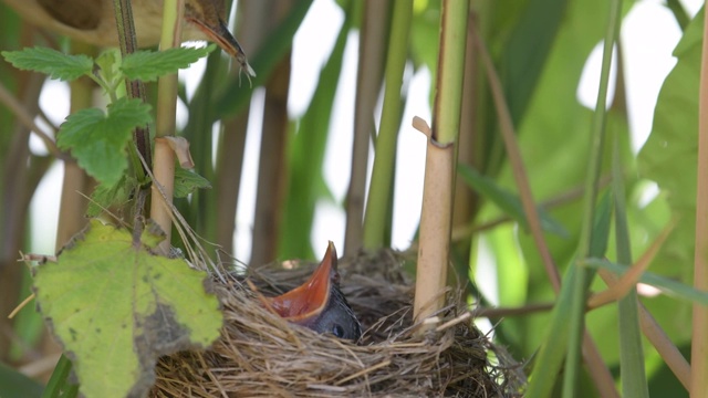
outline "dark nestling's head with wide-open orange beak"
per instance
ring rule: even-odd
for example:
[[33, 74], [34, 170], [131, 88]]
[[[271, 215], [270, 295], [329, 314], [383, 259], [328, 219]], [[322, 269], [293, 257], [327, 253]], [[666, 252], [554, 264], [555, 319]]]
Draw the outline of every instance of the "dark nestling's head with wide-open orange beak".
[[283, 318], [317, 333], [353, 341], [362, 336], [362, 326], [340, 291], [336, 250], [332, 242], [305, 283], [277, 297], [261, 296], [261, 301]]

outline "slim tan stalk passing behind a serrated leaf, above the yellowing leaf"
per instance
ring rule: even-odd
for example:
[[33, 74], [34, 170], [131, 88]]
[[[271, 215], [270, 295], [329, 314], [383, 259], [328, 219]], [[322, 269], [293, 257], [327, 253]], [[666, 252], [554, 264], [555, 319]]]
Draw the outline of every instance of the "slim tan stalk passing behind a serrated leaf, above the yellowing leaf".
[[[165, 0], [164, 10], [160, 49], [167, 50], [177, 48], [181, 43], [185, 0]], [[153, 181], [153, 196], [150, 199], [150, 218], [166, 234], [165, 240], [158, 245], [158, 250], [166, 255], [169, 253], [173, 230], [171, 203], [175, 189], [175, 153], [165, 137], [175, 134], [177, 73], [159, 78], [157, 82], [157, 95], [155, 164], [153, 165], [155, 180]]]

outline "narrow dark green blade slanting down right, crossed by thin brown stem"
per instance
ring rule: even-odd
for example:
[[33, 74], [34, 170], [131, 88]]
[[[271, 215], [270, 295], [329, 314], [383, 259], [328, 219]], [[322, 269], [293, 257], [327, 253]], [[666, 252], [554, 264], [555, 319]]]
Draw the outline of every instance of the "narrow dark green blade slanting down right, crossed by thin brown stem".
[[[462, 177], [462, 180], [479, 195], [491, 200], [503, 212], [517, 220], [525, 230], [529, 229], [529, 222], [527, 221], [521, 199], [519, 199], [518, 196], [501, 188], [491, 178], [480, 175], [479, 171], [469, 165], [459, 164], [457, 166], [457, 172]], [[543, 228], [544, 231], [555, 233], [562, 238], [569, 237], [565, 228], [555, 221], [544, 209], [539, 208], [539, 217], [541, 218], [541, 228]]]

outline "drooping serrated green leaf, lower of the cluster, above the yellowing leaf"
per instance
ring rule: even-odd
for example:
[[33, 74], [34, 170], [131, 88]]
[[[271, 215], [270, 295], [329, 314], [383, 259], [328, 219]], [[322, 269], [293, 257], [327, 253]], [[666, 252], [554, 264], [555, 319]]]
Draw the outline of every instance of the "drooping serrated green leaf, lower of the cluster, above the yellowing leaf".
[[149, 122], [149, 105], [139, 100], [121, 98], [108, 105], [107, 115], [88, 108], [69, 116], [61, 126], [56, 145], [71, 149], [87, 174], [113, 186], [128, 166], [125, 154], [131, 132]]

